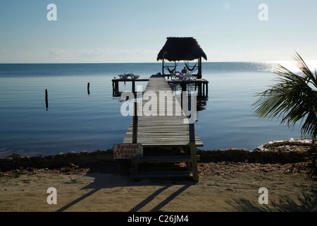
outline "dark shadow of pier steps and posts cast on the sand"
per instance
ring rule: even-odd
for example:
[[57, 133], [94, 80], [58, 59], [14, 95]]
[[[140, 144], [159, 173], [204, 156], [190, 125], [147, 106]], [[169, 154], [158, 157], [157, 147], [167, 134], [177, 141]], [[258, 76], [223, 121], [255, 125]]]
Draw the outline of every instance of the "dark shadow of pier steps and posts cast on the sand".
[[192, 186], [196, 184], [195, 182], [190, 182], [186, 180], [177, 180], [177, 181], [171, 181], [171, 180], [161, 180], [161, 181], [149, 181], [144, 180], [140, 182], [130, 182], [130, 177], [127, 174], [87, 174], [87, 177], [94, 177], [94, 182], [91, 184], [88, 184], [87, 186], [83, 187], [81, 190], [84, 189], [93, 189], [92, 191], [89, 191], [87, 194], [75, 199], [74, 201], [68, 203], [66, 206], [63, 206], [62, 208], [58, 209], [56, 212], [63, 212], [65, 210], [68, 210], [68, 208], [76, 205], [77, 203], [80, 203], [80, 201], [84, 200], [85, 198], [92, 196], [97, 191], [101, 189], [109, 189], [109, 188], [115, 188], [115, 187], [122, 187], [122, 186], [163, 186], [160, 189], [154, 191], [153, 194], [145, 198], [143, 201], [138, 203], [135, 207], [131, 208], [129, 212], [137, 212], [138, 210], [142, 209], [144, 206], [146, 206], [148, 203], [154, 200], [156, 196], [159, 196], [163, 191], [170, 188], [171, 186], [175, 185], [182, 185], [180, 189], [175, 191], [173, 194], [170, 194], [165, 200], [161, 201], [157, 206], [152, 208], [150, 211], [153, 212], [159, 212], [161, 211], [161, 208], [166, 206], [166, 204], [170, 203], [175, 197], [182, 194], [183, 191], [185, 191], [189, 186]]

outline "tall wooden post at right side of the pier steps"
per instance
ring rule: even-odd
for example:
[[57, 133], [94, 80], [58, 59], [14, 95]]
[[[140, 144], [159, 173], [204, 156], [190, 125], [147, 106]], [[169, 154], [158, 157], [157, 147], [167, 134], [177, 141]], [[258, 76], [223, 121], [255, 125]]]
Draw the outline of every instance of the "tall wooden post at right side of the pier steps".
[[[188, 107], [191, 106], [191, 98], [188, 97]], [[197, 105], [197, 103], [194, 103], [194, 105]], [[191, 109], [192, 110], [192, 109]], [[193, 112], [192, 114], [195, 114], [196, 112]], [[193, 117], [193, 116], [191, 116]], [[194, 129], [194, 122], [189, 123], [189, 147], [190, 147], [190, 156], [192, 157], [192, 179], [194, 182], [199, 182], [198, 177], [198, 166], [197, 166], [197, 148], [195, 143], [195, 129]]]

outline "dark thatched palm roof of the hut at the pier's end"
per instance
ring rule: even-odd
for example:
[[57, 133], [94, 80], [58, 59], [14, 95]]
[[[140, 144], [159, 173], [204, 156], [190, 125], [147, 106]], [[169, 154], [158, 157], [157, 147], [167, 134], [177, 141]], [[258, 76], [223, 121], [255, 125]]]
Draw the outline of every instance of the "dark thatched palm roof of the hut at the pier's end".
[[167, 37], [167, 41], [159, 54], [157, 60], [164, 59], [168, 61], [192, 61], [203, 57], [207, 59], [206, 54], [199, 46], [197, 40], [193, 37]]

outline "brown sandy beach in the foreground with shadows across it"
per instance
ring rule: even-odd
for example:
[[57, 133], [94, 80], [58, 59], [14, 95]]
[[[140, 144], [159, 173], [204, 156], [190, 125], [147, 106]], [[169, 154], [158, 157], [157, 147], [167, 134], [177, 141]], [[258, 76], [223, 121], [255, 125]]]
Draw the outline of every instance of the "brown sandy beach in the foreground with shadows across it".
[[[317, 181], [297, 164], [199, 163], [199, 182], [141, 180], [120, 172], [32, 169], [1, 174], [1, 212], [316, 211]], [[56, 189], [48, 204], [47, 189]], [[268, 204], [259, 189], [268, 189]]]

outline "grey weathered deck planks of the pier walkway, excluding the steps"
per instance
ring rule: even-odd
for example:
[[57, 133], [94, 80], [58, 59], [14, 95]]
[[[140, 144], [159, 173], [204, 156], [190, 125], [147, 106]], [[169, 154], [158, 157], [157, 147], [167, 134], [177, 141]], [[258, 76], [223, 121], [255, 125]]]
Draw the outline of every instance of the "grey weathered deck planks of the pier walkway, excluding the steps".
[[[184, 124], [184, 119], [187, 117], [180, 109], [180, 103], [176, 100], [175, 95], [171, 93], [170, 86], [163, 77], [150, 78], [144, 92], [152, 91], [156, 93], [157, 98], [157, 116], [139, 116], [138, 117], [138, 131], [137, 143], [144, 146], [188, 146], [189, 145], [189, 125]], [[160, 91], [166, 92], [166, 97], [161, 97]], [[159, 103], [161, 100], [173, 100], [173, 115], [159, 116]], [[148, 100], [142, 101], [142, 109]], [[175, 116], [175, 109], [180, 109], [182, 114]], [[203, 146], [200, 138], [195, 133], [195, 141], [197, 146]], [[123, 143], [132, 143], [132, 122], [129, 126], [128, 132], [125, 134]]]

